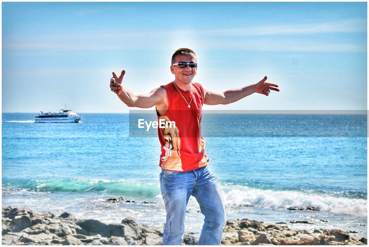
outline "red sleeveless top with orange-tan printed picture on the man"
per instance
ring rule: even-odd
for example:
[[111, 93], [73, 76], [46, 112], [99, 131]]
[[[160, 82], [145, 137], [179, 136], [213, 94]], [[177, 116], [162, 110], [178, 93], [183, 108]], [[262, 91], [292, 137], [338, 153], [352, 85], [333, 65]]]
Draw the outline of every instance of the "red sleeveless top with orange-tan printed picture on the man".
[[[205, 155], [205, 141], [201, 137], [201, 108], [204, 103], [204, 91], [200, 83], [192, 83], [186, 92], [175, 87], [174, 82], [161, 86], [168, 95], [168, 110], [158, 116], [158, 122], [175, 122], [175, 126], [166, 124], [158, 128], [161, 143], [159, 166], [168, 171], [191, 171], [209, 163]], [[179, 93], [180, 92], [180, 93]], [[187, 106], [186, 101], [191, 107]], [[162, 121], [163, 121], [162, 120]]]

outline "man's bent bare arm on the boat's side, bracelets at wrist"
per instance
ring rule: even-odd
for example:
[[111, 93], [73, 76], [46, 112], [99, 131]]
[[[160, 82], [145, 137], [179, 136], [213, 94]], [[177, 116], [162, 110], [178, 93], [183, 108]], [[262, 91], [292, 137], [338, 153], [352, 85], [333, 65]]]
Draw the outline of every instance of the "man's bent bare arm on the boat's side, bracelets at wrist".
[[[121, 87], [121, 83], [123, 81], [123, 77], [125, 74], [125, 70], [122, 71], [120, 76], [118, 77], [115, 72], [113, 72], [113, 77], [110, 79], [110, 88], [113, 90], [119, 90]], [[139, 107], [139, 108], [150, 108], [154, 105], [161, 104], [165, 99], [164, 88], [155, 88], [151, 90], [148, 94], [134, 94], [130, 90], [123, 87], [123, 91], [118, 94], [118, 97], [121, 101], [124, 102], [129, 107]]]

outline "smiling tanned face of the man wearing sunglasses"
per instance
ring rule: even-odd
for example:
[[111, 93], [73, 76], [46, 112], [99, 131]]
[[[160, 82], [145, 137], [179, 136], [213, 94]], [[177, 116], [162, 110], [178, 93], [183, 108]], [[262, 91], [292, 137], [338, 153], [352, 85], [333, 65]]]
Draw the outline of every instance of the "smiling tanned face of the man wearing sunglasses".
[[[197, 63], [196, 56], [193, 54], [180, 54], [175, 56], [174, 63], [186, 62], [186, 63]], [[176, 83], [188, 84], [192, 81], [196, 74], [196, 68], [187, 67], [181, 68], [178, 65], [170, 66], [170, 71], [176, 77]]]

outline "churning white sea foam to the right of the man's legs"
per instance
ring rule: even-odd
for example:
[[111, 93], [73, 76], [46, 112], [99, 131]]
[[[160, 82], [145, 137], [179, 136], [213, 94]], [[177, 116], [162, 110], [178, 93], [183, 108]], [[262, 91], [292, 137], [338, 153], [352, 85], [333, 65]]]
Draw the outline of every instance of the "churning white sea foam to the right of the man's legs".
[[272, 191], [242, 185], [222, 187], [225, 204], [252, 205], [258, 208], [287, 209], [293, 206], [317, 206], [322, 212], [367, 217], [367, 200], [305, 194], [299, 191]]

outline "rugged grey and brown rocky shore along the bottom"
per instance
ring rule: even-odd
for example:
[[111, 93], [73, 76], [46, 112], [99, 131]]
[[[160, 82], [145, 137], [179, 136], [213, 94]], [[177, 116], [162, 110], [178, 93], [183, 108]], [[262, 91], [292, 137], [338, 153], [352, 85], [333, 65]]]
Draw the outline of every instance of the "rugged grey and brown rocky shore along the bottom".
[[[2, 209], [3, 245], [161, 245], [163, 229], [142, 225], [128, 217], [121, 223], [76, 219], [72, 213], [59, 216], [33, 212], [30, 208]], [[196, 245], [197, 237], [184, 235], [184, 245]], [[342, 230], [314, 231], [265, 225], [255, 220], [228, 220], [222, 245], [366, 245], [366, 238]]]

